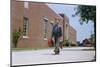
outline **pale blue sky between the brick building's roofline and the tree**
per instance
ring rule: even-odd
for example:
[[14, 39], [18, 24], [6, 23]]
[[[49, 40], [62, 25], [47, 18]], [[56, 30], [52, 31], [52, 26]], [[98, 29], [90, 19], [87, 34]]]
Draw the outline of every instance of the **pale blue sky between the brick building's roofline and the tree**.
[[64, 13], [69, 18], [70, 25], [77, 31], [77, 41], [82, 42], [85, 38], [89, 38], [94, 33], [94, 24], [89, 21], [88, 24], [83, 25], [79, 22], [79, 16], [72, 17], [75, 14], [74, 8], [77, 5], [65, 5], [65, 4], [48, 4], [48, 6], [56, 13]]

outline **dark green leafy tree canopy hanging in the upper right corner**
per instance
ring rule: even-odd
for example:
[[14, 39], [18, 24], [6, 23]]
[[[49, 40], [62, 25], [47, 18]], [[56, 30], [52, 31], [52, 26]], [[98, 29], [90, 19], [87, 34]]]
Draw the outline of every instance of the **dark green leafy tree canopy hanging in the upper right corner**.
[[88, 21], [96, 23], [96, 6], [79, 5], [76, 9], [76, 13], [73, 16], [80, 16], [80, 23], [88, 23]]

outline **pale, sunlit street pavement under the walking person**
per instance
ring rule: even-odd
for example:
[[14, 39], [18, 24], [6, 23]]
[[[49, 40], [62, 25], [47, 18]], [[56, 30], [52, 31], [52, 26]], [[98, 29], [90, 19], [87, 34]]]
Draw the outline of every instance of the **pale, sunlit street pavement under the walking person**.
[[54, 54], [54, 48], [12, 51], [12, 65], [80, 62], [94, 60], [95, 51], [85, 49], [93, 49], [93, 47], [64, 47], [63, 49], [60, 49], [59, 55]]

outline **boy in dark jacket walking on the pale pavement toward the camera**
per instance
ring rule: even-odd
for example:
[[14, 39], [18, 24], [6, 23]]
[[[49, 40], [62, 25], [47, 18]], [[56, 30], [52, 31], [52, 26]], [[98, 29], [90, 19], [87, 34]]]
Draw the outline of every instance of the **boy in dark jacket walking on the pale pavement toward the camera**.
[[55, 54], [59, 54], [60, 49], [59, 49], [59, 42], [60, 42], [60, 37], [62, 36], [62, 29], [61, 26], [59, 25], [59, 19], [55, 19], [55, 24], [53, 25], [52, 29], [52, 38], [54, 37], [55, 44], [54, 44], [54, 52]]

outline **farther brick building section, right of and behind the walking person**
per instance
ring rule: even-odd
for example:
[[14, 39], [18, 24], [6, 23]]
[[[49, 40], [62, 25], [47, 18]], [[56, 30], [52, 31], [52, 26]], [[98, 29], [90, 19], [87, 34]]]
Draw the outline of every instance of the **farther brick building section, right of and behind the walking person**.
[[76, 44], [76, 30], [69, 24], [69, 18], [60, 14], [63, 17], [63, 40], [69, 40], [72, 44]]

